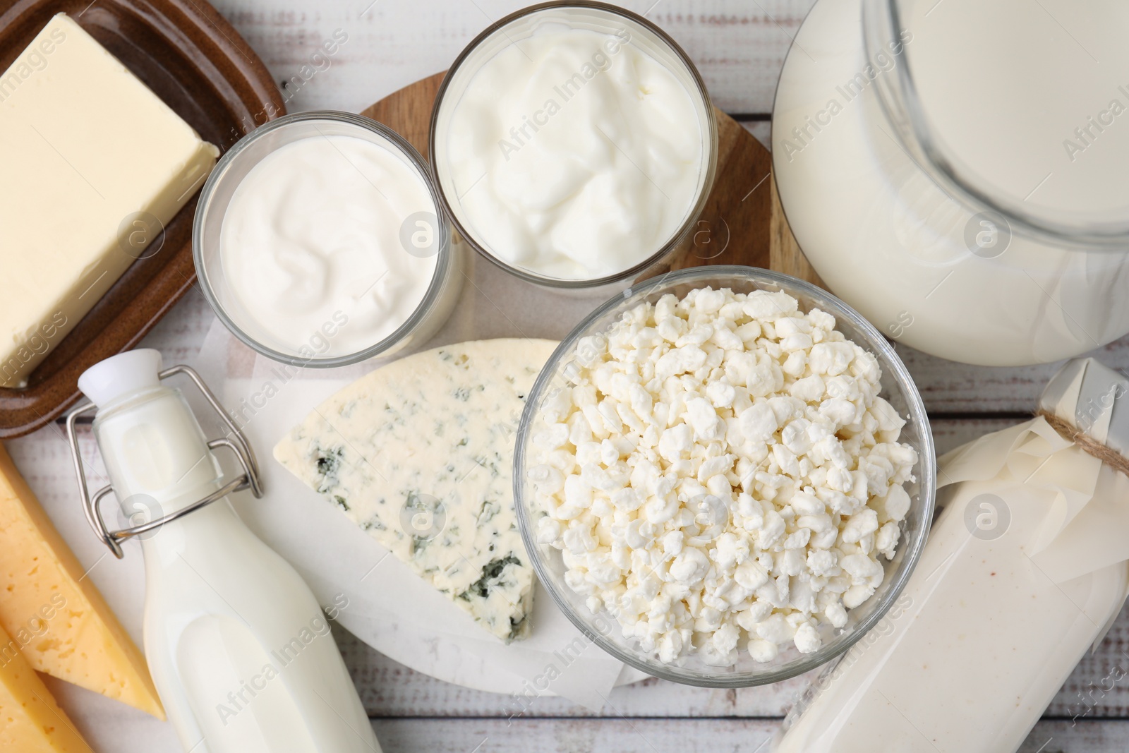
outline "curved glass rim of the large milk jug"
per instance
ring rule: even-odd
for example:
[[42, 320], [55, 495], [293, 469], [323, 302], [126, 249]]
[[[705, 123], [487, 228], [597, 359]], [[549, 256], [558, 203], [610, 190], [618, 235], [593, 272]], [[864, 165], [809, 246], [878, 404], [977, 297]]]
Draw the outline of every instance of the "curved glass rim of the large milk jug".
[[[901, 14], [898, 2], [861, 0], [863, 44], [867, 62], [876, 69], [882, 68], [876, 55], [889, 50], [887, 42], [899, 38]], [[1124, 249], [1129, 245], [1129, 220], [1070, 220], [1064, 217], [1070, 212], [1052, 209], [1040, 216], [1040, 212], [1027, 210], [1022, 201], [992, 195], [990, 189], [978, 185], [978, 178], [956, 165], [957, 160], [930, 128], [904, 46], [893, 58], [899, 63], [894, 65], [894, 76], [875, 79], [878, 103], [900, 146], [945, 193], [973, 212], [996, 212], [1017, 234], [1038, 242], [1106, 249]]]

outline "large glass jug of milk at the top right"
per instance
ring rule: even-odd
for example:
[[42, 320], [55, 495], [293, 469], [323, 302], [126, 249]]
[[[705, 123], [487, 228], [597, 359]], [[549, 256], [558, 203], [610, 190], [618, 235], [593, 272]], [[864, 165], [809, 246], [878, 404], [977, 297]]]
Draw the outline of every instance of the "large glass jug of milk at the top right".
[[772, 122], [791, 229], [890, 336], [983, 365], [1129, 332], [1129, 6], [821, 0]]

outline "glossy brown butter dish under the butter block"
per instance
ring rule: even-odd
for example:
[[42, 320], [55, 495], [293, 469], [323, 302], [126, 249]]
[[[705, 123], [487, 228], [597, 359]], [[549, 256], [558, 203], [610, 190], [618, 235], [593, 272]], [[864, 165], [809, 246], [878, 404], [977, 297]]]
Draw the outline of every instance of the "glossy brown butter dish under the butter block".
[[[0, 71], [55, 14], [65, 12], [221, 151], [286, 112], [278, 86], [246, 42], [205, 0], [0, 0]], [[75, 113], [75, 126], [82, 114]], [[137, 345], [195, 281], [193, 199], [75, 326], [21, 389], [0, 388], [0, 437], [59, 418], [78, 377]]]

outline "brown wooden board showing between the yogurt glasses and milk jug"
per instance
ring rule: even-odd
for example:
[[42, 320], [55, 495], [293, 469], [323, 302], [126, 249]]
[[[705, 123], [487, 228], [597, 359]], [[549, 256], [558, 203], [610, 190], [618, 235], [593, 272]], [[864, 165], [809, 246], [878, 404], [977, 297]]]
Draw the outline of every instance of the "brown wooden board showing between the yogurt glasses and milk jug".
[[[395, 91], [361, 115], [379, 121], [428, 157], [431, 105], [444, 73]], [[709, 202], [694, 234], [693, 248], [673, 269], [704, 264], [745, 264], [784, 272], [821, 287], [799, 251], [780, 208], [772, 157], [735, 120], [717, 113], [718, 170]]]

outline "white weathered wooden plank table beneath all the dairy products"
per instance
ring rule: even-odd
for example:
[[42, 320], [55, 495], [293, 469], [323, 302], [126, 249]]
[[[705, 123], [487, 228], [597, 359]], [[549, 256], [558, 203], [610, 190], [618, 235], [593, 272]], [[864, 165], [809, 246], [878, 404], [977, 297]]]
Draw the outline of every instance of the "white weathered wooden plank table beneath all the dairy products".
[[[780, 65], [812, 1], [630, 0], [623, 5], [646, 12], [669, 32], [698, 64], [716, 104], [767, 143]], [[523, 3], [219, 0], [215, 5], [259, 52], [274, 78], [288, 82], [291, 112], [357, 112], [444, 70], [491, 20]], [[348, 41], [329, 61], [316, 56], [322, 42], [338, 29]], [[211, 321], [202, 296], [192, 291], [143, 344], [163, 351], [166, 364], [184, 362], [199, 351]], [[899, 351], [929, 408], [938, 452], [1024, 420], [1057, 368], [977, 368], [901, 347]], [[1093, 354], [1114, 368], [1129, 367], [1129, 339]], [[64, 536], [88, 551], [89, 542], [78, 541], [89, 539], [88, 532], [71, 519], [61, 519], [67, 510], [77, 516], [78, 506], [59, 427], [12, 440], [8, 448]], [[107, 577], [114, 577], [113, 568], [91, 573], [96, 583]], [[767, 750], [768, 737], [804, 683], [797, 678], [767, 688], [703, 690], [648, 680], [613, 691], [595, 716], [561, 699], [544, 698], [526, 713], [510, 718], [515, 711], [511, 698], [432, 680], [383, 657], [343, 631], [336, 631], [335, 637], [387, 753], [754, 752]], [[1129, 616], [1123, 614], [1099, 650], [1074, 672], [1021, 750], [1129, 750], [1127, 674]], [[112, 701], [86, 698], [90, 694], [61, 682], [51, 681], [51, 688], [68, 710], [85, 709], [77, 724], [96, 750], [177, 751], [167, 725]], [[124, 745], [123, 741], [134, 744]]]

